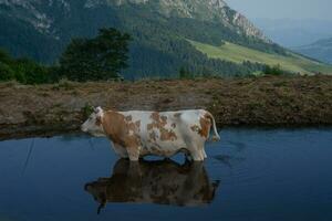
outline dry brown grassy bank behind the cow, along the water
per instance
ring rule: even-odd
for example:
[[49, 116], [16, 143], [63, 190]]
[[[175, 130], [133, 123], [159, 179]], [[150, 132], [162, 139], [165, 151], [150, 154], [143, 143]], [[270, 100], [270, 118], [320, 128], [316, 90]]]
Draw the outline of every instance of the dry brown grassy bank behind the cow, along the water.
[[332, 126], [332, 76], [0, 84], [0, 139], [79, 131], [86, 108], [205, 108], [219, 127]]

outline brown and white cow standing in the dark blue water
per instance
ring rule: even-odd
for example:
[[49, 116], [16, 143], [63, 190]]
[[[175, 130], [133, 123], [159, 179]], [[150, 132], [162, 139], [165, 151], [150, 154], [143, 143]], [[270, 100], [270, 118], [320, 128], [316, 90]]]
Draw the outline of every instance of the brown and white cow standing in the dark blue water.
[[108, 137], [115, 152], [133, 161], [147, 155], [172, 157], [180, 151], [203, 161], [207, 158], [204, 145], [211, 126], [212, 140], [219, 140], [215, 118], [204, 109], [115, 112], [97, 107], [81, 129]]

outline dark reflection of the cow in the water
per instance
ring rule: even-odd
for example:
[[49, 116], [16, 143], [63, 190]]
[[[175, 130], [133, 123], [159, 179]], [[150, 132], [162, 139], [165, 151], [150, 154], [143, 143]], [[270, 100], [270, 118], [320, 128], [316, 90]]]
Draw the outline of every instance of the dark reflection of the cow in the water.
[[120, 159], [111, 178], [86, 183], [85, 190], [101, 203], [100, 212], [107, 202], [207, 204], [212, 201], [218, 183], [210, 183], [201, 162]]

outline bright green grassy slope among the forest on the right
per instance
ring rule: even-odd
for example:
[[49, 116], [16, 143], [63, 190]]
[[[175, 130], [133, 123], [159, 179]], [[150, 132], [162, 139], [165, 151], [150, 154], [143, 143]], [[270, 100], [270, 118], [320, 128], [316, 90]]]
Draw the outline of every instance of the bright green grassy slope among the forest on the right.
[[269, 54], [257, 50], [248, 49], [238, 44], [226, 42], [221, 46], [214, 46], [196, 41], [189, 41], [198, 51], [209, 57], [227, 60], [236, 63], [243, 61], [259, 62], [269, 65], [280, 64], [282, 69], [301, 74], [312, 74], [321, 72], [332, 74], [332, 66], [317, 61], [312, 61], [291, 53], [290, 56]]

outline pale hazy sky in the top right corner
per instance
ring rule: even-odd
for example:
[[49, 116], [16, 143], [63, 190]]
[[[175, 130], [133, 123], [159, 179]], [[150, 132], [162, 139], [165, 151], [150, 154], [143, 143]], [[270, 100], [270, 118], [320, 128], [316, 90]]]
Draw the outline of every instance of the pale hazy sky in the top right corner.
[[332, 20], [332, 0], [226, 0], [249, 19]]

